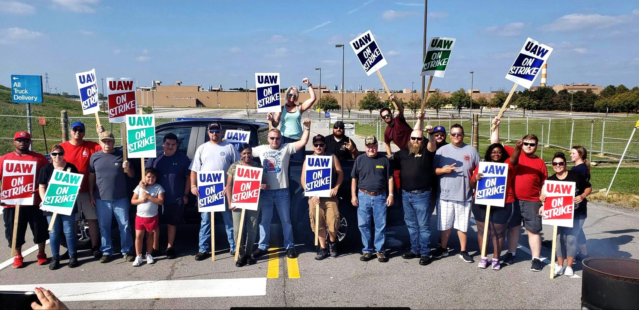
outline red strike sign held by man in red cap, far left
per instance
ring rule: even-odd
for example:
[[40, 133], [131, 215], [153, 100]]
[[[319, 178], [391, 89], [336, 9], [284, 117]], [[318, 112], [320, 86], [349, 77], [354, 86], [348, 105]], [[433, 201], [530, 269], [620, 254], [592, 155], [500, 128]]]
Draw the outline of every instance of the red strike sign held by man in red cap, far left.
[[36, 191], [35, 185], [35, 161], [4, 161], [0, 202], [8, 205], [33, 205], [33, 193]]

